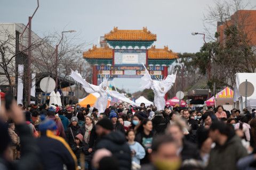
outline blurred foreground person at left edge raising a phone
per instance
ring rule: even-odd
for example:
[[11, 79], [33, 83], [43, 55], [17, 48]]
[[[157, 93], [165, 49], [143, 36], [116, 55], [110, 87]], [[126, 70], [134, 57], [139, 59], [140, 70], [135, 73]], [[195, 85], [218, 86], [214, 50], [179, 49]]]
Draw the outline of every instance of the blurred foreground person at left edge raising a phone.
[[[38, 169], [39, 157], [38, 148], [29, 127], [25, 123], [25, 116], [22, 110], [13, 101], [11, 94], [5, 95], [5, 108], [0, 110], [0, 169]], [[21, 160], [11, 161], [9, 155], [11, 138], [8, 134], [6, 119], [11, 119], [20, 136]]]

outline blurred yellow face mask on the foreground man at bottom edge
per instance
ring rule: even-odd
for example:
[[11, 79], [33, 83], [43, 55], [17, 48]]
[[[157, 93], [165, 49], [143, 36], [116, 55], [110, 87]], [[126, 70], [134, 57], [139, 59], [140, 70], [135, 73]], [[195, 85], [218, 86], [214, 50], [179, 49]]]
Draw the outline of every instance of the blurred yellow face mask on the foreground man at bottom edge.
[[176, 161], [166, 161], [166, 160], [156, 160], [154, 165], [158, 170], [177, 170], [180, 168], [180, 160]]

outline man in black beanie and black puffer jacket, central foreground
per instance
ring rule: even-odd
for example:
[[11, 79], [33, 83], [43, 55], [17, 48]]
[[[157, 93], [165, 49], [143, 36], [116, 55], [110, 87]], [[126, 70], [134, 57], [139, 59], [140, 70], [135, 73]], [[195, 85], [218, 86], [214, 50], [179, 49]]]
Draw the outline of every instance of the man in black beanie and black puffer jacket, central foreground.
[[125, 135], [119, 131], [113, 132], [113, 123], [107, 118], [99, 120], [96, 125], [96, 132], [100, 137], [96, 149], [109, 150], [118, 160], [120, 170], [130, 170], [131, 150], [126, 143]]

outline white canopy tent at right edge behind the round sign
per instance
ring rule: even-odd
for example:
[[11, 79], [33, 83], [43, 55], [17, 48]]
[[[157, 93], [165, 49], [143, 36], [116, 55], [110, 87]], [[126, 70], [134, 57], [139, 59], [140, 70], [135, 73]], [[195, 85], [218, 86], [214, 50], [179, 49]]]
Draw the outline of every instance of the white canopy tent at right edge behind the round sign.
[[254, 92], [251, 96], [247, 97], [247, 108], [253, 109], [256, 108], [256, 73], [237, 73], [236, 74], [236, 85], [234, 88], [234, 102], [239, 103], [239, 109], [242, 110], [245, 108], [245, 98], [242, 97], [238, 92], [239, 85], [247, 79], [247, 82], [251, 82], [254, 86]]

